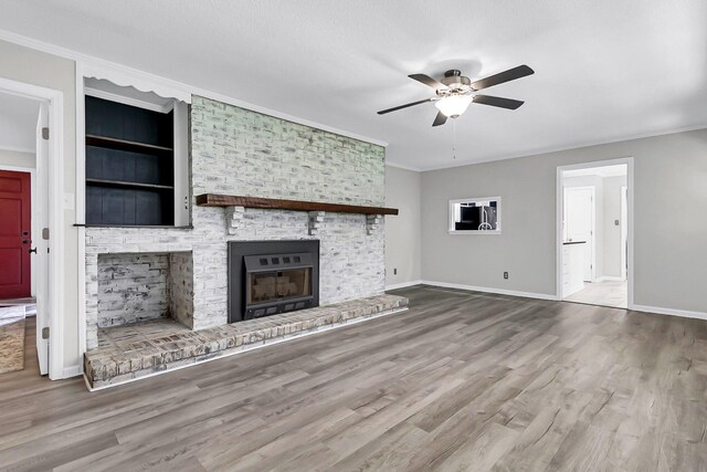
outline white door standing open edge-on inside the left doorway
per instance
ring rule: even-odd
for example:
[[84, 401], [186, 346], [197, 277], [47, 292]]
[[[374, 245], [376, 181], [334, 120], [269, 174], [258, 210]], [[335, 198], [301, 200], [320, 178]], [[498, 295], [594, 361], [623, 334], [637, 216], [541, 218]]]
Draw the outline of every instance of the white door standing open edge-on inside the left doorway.
[[36, 123], [36, 200], [32, 202], [33, 238], [32, 254], [36, 296], [36, 356], [42, 375], [49, 374], [49, 319], [51, 305], [49, 303], [49, 204], [46, 200], [49, 189], [49, 140], [43, 139], [42, 128], [49, 128], [49, 107], [42, 104]]

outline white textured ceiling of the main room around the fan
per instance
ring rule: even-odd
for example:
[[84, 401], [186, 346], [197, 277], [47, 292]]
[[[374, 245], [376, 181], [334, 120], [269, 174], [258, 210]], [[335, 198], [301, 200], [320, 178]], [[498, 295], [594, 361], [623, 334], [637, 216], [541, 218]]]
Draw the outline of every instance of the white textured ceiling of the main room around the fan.
[[[6, 0], [0, 29], [388, 141], [430, 169], [707, 126], [703, 0]], [[432, 128], [407, 75], [536, 74]]]

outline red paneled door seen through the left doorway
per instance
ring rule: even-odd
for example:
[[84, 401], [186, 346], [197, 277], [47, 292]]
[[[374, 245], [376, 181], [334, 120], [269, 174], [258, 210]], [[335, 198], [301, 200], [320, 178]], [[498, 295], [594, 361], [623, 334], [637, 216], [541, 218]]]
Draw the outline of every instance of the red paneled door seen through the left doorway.
[[0, 170], [0, 300], [30, 296], [30, 175]]

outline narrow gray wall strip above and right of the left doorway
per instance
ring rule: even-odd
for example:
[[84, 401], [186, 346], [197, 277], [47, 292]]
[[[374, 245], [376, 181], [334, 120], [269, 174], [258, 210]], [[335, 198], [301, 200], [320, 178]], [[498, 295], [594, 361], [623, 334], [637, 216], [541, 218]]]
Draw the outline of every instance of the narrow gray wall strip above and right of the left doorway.
[[[73, 61], [0, 41], [0, 77], [61, 91], [64, 94], [64, 192], [76, 189], [75, 64]], [[74, 210], [64, 210], [64, 368], [78, 358], [78, 231]], [[83, 327], [82, 327], [83, 329]]]

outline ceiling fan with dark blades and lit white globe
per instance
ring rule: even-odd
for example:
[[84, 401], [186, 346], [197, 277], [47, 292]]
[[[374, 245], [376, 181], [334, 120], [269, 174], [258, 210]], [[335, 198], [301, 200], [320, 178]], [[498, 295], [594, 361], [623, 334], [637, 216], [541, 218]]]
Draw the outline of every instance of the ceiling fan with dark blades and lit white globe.
[[436, 95], [431, 98], [382, 109], [378, 112], [378, 114], [384, 115], [398, 109], [432, 102], [439, 109], [437, 116], [434, 118], [432, 126], [440, 126], [444, 125], [447, 118], [458, 118], [464, 112], [466, 112], [466, 108], [472, 102], [479, 103], [482, 105], [497, 106], [500, 108], [516, 109], [523, 105], [524, 102], [490, 95], [481, 95], [475, 92], [493, 87], [494, 85], [503, 84], [505, 82], [515, 81], [516, 78], [521, 78], [527, 75], [532, 75], [534, 73], [535, 71], [532, 69], [524, 64], [486, 78], [479, 78], [475, 82], [472, 82], [468, 77], [462, 75], [462, 72], [456, 69], [446, 71], [441, 81], [436, 81], [425, 74], [408, 75], [410, 78], [434, 88]]

